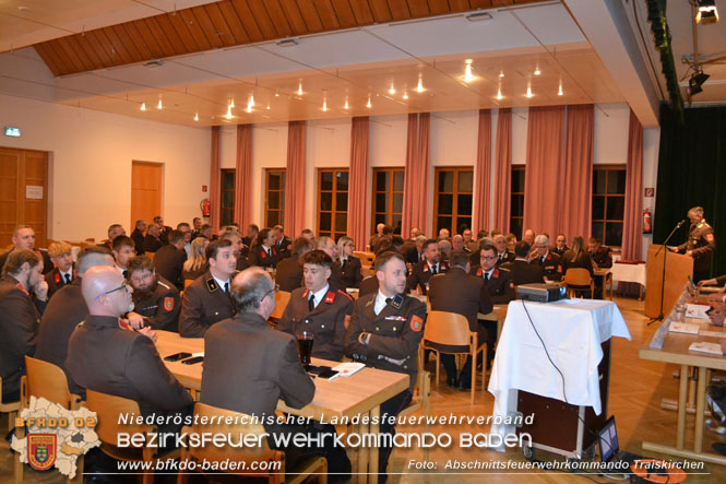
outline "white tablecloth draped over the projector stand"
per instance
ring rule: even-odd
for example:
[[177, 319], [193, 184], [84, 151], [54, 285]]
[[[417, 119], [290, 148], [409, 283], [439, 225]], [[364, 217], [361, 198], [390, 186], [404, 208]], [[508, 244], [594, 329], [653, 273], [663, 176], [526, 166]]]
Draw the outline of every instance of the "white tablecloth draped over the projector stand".
[[[548, 304], [527, 302], [526, 311], [523, 302], [510, 303], [489, 378], [495, 416], [503, 417], [516, 410], [517, 389], [566, 400], [562, 377], [549, 363], [527, 312], [550, 358], [564, 376], [567, 401], [592, 406], [599, 415], [600, 344], [611, 337], [630, 340], [630, 332], [618, 306], [610, 300], [563, 299]], [[501, 437], [513, 430], [511, 426], [491, 426], [491, 433]]]

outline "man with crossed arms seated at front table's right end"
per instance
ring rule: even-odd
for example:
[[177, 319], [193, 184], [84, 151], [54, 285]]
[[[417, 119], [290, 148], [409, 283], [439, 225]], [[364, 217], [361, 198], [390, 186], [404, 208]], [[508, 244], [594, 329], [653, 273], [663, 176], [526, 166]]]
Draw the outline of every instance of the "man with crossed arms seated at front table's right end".
[[[404, 294], [406, 263], [397, 252], [383, 252], [376, 258], [379, 290], [356, 300], [345, 335], [345, 354], [366, 366], [407, 374], [408, 389], [381, 404], [381, 415], [397, 415], [410, 402], [416, 385], [418, 345], [424, 335], [426, 305]], [[381, 434], [394, 434], [386, 420]], [[381, 447], [379, 483], [385, 482], [390, 447]]]

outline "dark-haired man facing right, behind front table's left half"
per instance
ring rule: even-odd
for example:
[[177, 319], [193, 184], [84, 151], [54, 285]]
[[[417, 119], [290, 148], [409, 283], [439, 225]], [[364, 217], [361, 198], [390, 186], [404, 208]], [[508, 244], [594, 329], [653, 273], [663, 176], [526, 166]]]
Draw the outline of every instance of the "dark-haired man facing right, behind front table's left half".
[[237, 258], [229, 240], [214, 240], [206, 247], [210, 270], [185, 290], [179, 315], [179, 334], [202, 338], [215, 322], [235, 315], [229, 291]]

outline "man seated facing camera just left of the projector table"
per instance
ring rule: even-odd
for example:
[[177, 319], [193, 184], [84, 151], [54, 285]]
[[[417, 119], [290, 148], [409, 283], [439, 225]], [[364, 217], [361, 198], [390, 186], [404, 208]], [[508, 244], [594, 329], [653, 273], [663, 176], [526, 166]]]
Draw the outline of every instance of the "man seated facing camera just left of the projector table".
[[[507, 269], [497, 267], [497, 247], [486, 244], [479, 250], [479, 267], [473, 268], [472, 273], [484, 280], [484, 286], [489, 293], [491, 303], [509, 304], [514, 299], [514, 285]], [[497, 342], [497, 321], [483, 321], [487, 328], [487, 369], [491, 367], [495, 358], [495, 343]]]

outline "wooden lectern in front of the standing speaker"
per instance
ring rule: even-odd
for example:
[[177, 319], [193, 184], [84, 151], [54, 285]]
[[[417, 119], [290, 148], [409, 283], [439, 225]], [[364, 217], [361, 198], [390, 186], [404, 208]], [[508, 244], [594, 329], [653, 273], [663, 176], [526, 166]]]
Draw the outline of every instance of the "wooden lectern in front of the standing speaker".
[[[666, 256], [667, 247], [656, 256], [660, 245], [653, 244], [647, 249], [647, 269], [645, 274], [645, 316], [657, 318], [660, 315], [660, 298], [663, 298], [663, 314], [667, 315], [680, 297], [688, 278], [693, 275], [693, 259], [681, 253], [670, 252]], [[663, 258], [666, 259], [666, 281], [663, 284]], [[663, 292], [660, 292], [663, 287]]]

